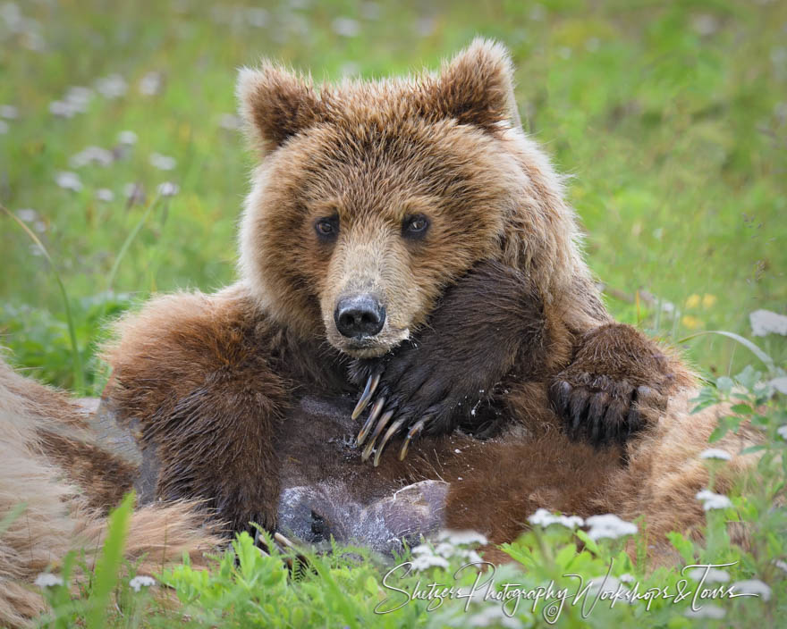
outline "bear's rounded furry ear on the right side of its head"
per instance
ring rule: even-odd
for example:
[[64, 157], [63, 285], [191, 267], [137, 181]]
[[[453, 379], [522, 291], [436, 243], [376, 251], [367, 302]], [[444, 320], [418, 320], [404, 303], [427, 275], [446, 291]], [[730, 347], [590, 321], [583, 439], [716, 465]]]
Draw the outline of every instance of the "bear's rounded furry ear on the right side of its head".
[[460, 124], [494, 130], [508, 122], [521, 128], [513, 94], [513, 66], [505, 46], [476, 38], [443, 64], [432, 106]]

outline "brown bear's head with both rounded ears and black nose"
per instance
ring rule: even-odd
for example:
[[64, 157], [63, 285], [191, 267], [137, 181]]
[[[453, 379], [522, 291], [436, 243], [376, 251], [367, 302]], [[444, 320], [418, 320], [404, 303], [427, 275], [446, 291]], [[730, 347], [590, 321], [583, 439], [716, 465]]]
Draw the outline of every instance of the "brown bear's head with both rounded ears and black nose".
[[477, 40], [436, 75], [319, 89], [263, 63], [241, 71], [238, 96], [261, 155], [241, 273], [279, 323], [381, 356], [500, 255], [524, 187], [502, 46]]

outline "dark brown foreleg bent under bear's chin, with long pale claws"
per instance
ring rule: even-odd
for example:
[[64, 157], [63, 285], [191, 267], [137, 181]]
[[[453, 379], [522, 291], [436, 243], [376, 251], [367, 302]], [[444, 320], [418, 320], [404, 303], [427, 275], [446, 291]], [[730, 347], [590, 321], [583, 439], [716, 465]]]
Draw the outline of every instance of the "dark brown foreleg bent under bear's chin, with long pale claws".
[[[478, 428], [512, 369], [534, 377], [546, 365], [545, 319], [537, 289], [520, 271], [494, 261], [478, 264], [446, 290], [428, 325], [381, 359], [351, 365], [367, 382], [353, 417], [375, 396], [358, 442], [375, 463], [397, 432], [402, 457], [419, 432]], [[494, 410], [492, 410], [494, 414]]]

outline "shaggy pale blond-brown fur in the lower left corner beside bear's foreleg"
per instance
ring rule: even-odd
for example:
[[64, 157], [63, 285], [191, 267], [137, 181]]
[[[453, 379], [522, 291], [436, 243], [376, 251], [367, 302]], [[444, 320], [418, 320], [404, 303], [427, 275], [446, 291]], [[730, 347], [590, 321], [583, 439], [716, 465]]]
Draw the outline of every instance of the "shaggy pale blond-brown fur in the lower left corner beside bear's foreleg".
[[[62, 393], [22, 378], [0, 360], [0, 520], [24, 504], [0, 533], [0, 625], [27, 625], [45, 609], [38, 574], [71, 549], [90, 557], [106, 535], [106, 507], [131, 489], [131, 465], [99, 446], [88, 415]], [[70, 458], [73, 456], [73, 459]], [[100, 506], [101, 509], [96, 507]], [[137, 510], [126, 557], [140, 574], [187, 552], [199, 565], [219, 538], [194, 503]]]

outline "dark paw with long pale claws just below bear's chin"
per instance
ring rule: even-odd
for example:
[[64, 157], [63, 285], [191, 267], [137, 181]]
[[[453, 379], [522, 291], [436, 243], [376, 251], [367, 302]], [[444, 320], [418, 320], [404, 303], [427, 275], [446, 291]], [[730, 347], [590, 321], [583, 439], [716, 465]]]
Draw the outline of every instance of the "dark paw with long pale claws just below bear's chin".
[[399, 452], [402, 460], [410, 442], [421, 432], [450, 432], [452, 416], [459, 407], [473, 403], [461, 392], [466, 389], [462, 374], [452, 371], [451, 365], [433, 365], [426, 360], [414, 342], [408, 342], [393, 357], [358, 361], [352, 377], [358, 382], [366, 379], [366, 387], [352, 418], [358, 418], [371, 404], [357, 438], [359, 446], [365, 445], [362, 460], [374, 452], [372, 461], [377, 467], [388, 441], [398, 433], [404, 436]]

